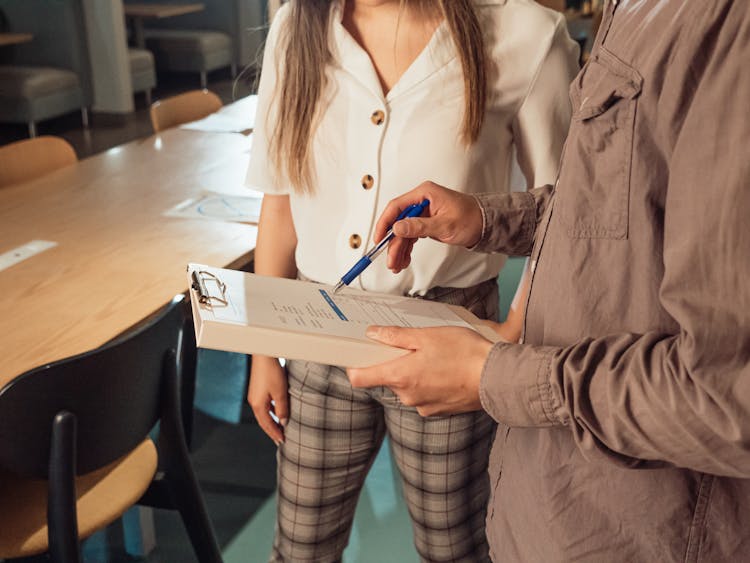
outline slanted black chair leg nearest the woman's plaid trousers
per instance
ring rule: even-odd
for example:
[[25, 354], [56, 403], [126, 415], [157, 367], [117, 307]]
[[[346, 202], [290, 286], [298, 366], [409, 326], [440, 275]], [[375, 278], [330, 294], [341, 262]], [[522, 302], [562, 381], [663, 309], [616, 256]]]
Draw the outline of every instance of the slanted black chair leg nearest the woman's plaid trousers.
[[161, 416], [159, 451], [164, 461], [165, 477], [172, 500], [182, 516], [198, 561], [221, 563], [214, 534], [198, 478], [190, 463], [180, 416], [180, 381], [176, 353], [172, 350], [164, 360], [164, 401]]

